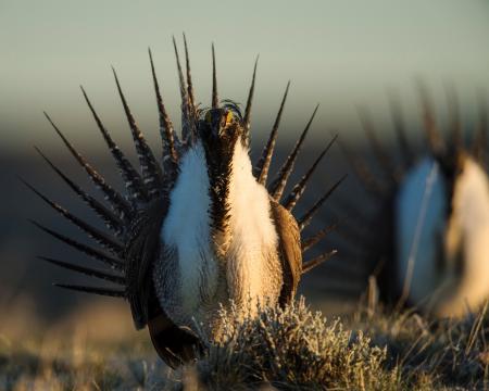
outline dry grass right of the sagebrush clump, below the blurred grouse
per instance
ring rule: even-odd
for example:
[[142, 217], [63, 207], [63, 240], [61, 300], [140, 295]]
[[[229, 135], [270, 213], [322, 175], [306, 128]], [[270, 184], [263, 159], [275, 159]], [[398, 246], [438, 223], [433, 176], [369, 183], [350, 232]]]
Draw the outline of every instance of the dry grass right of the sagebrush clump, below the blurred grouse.
[[398, 367], [408, 383], [432, 388], [489, 390], [488, 306], [463, 320], [428, 321], [419, 315], [358, 314], [352, 325], [386, 345], [390, 367]]

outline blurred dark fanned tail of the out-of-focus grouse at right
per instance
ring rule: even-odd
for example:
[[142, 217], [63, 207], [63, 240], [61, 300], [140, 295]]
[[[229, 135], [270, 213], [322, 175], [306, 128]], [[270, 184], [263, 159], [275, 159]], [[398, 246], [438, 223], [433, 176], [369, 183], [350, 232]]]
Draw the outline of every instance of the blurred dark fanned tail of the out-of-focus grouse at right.
[[[479, 121], [474, 133], [471, 149], [464, 144], [464, 128], [462, 126], [461, 110], [459, 98], [453, 86], [449, 85], [446, 89], [449, 122], [447, 137], [436, 121], [432, 102], [428, 94], [428, 89], [423, 83], [417, 84], [418, 99], [421, 102], [421, 113], [423, 119], [423, 133], [426, 140], [428, 155], [436, 159], [443, 167], [449, 178], [453, 178], [459, 169], [459, 156], [473, 156], [487, 169], [486, 151], [487, 151], [487, 103], [479, 103]], [[333, 242], [338, 245], [340, 256], [343, 255], [342, 265], [346, 267], [348, 275], [353, 276], [355, 269], [365, 268], [362, 277], [362, 286], [365, 289], [368, 285], [368, 277], [375, 276], [379, 283], [380, 295], [387, 303], [396, 301], [399, 294], [398, 287], [394, 287], [396, 280], [396, 248], [393, 239], [393, 211], [396, 194], [399, 185], [404, 179], [404, 175], [413, 167], [419, 154], [415, 153], [414, 148], [410, 146], [406, 138], [406, 127], [401, 112], [399, 100], [392, 93], [389, 96], [390, 112], [394, 133], [397, 136], [397, 147], [400, 151], [401, 168], [394, 166], [396, 160], [392, 154], [388, 154], [387, 148], [383, 147], [376, 138], [372, 119], [366, 111], [361, 112], [361, 119], [365, 133], [369, 150], [375, 156], [376, 165], [383, 172], [381, 176], [377, 176], [369, 161], [360, 161], [351, 153], [346, 146], [340, 142], [347, 159], [352, 165], [356, 177], [363, 185], [365, 193], [372, 197], [372, 205], [367, 205], [364, 210], [359, 211], [359, 204], [348, 202], [348, 195], [337, 198], [339, 203], [343, 203], [341, 207], [338, 203], [333, 204], [329, 214], [341, 220], [338, 229], [333, 235]], [[426, 153], [426, 151], [424, 152]], [[377, 168], [377, 166], [375, 167]], [[389, 180], [386, 182], [385, 177]], [[362, 204], [363, 206], [363, 204]], [[346, 212], [348, 211], [348, 212]], [[367, 213], [365, 213], [367, 212]], [[371, 213], [368, 213], [371, 212]], [[347, 218], [349, 217], [349, 218]], [[303, 222], [304, 217], [299, 222]], [[311, 237], [308, 241], [303, 240], [303, 248], [315, 237]], [[378, 239], [381, 238], [381, 239]], [[344, 257], [344, 255], [347, 255]], [[329, 272], [329, 269], [328, 269]]]

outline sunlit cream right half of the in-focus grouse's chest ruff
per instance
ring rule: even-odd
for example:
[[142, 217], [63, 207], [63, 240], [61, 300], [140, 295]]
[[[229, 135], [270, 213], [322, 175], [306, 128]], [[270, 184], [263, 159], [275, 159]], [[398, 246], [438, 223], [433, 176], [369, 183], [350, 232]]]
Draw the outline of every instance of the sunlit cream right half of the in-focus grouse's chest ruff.
[[230, 243], [227, 250], [227, 280], [230, 298], [274, 302], [281, 288], [277, 256], [277, 232], [271, 219], [268, 192], [251, 174], [248, 151], [237, 146], [228, 202]]

